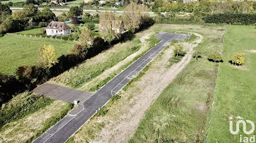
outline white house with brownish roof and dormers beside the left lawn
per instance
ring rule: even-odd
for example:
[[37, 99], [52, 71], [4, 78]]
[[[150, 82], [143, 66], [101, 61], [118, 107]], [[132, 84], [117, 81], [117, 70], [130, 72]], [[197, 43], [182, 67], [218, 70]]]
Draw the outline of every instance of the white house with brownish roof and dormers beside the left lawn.
[[71, 28], [64, 22], [52, 21], [46, 27], [46, 34], [49, 36], [59, 36], [71, 34]]

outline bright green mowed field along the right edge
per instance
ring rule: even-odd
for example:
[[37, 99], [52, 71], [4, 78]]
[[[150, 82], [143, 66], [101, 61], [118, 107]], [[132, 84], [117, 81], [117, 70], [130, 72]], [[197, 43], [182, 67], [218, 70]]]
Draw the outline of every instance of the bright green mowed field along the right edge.
[[[256, 123], [255, 50], [255, 26], [228, 26], [223, 50], [225, 62], [220, 64], [208, 142], [240, 142], [240, 135], [255, 135], [255, 132], [251, 135], [244, 134], [242, 125], [236, 135], [230, 134], [229, 128], [229, 117], [233, 117], [233, 131], [236, 130], [239, 118]], [[235, 67], [227, 61], [238, 51], [246, 53], [246, 64]], [[247, 123], [246, 131], [251, 128]]]

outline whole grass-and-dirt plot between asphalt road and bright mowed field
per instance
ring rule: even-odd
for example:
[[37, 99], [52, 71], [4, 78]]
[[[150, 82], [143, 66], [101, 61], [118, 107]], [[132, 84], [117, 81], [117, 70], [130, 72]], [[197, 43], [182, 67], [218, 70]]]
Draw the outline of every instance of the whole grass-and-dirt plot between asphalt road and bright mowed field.
[[[203, 41], [194, 50], [200, 50], [203, 58], [198, 61], [193, 58], [170, 83], [171, 80], [164, 75], [170, 70], [170, 65], [175, 63], [171, 60], [173, 48], [178, 43], [189, 47], [198, 37], [173, 43], [133, 82], [117, 96], [113, 96], [68, 142], [128, 142], [129, 139], [129, 142], [154, 142], [156, 139], [160, 142], [162, 137], [165, 139], [162, 141], [166, 142], [170, 139], [176, 142], [204, 140], [208, 110], [206, 103], [211, 98], [208, 96], [214, 93], [219, 65], [209, 62], [207, 55], [212, 50], [221, 50], [225, 26], [159, 24], [149, 28], [147, 33], [154, 35], [160, 31], [194, 32], [202, 35]], [[162, 77], [165, 80], [162, 81]], [[166, 83], [170, 85], [167, 86]], [[163, 93], [161, 92], [165, 87], [162, 85], [167, 86]], [[150, 107], [156, 98], [157, 101]], [[161, 104], [165, 101], [165, 104]]]

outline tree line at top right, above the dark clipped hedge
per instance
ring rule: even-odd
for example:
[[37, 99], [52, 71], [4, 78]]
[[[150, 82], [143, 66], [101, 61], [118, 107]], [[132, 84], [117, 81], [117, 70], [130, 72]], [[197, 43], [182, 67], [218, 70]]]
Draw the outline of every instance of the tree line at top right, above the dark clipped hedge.
[[192, 1], [189, 3], [156, 0], [149, 5], [153, 12], [207, 12], [225, 13], [256, 11], [255, 1]]

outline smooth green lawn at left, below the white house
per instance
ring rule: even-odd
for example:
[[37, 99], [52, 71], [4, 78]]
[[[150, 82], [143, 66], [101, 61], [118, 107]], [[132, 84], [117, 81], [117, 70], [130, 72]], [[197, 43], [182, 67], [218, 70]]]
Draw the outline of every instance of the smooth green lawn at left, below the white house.
[[60, 56], [69, 53], [74, 42], [12, 35], [0, 37], [0, 73], [15, 74], [18, 66], [36, 64], [37, 51], [43, 45], [53, 45], [56, 55]]

